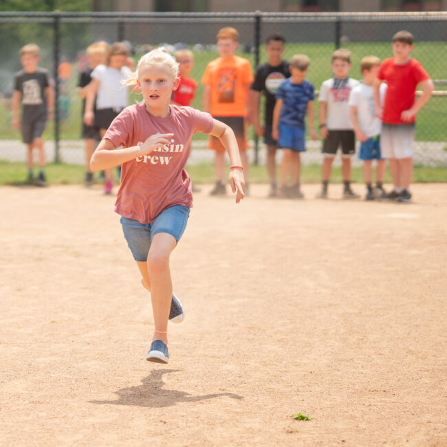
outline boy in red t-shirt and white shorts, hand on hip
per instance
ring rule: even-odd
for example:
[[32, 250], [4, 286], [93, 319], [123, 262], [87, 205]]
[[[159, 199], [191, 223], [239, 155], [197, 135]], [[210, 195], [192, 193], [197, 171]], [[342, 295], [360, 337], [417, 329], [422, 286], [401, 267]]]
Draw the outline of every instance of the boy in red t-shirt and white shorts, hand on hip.
[[[433, 82], [424, 67], [410, 57], [413, 50], [411, 32], [397, 32], [391, 46], [394, 57], [382, 62], [374, 83], [375, 113], [382, 120], [382, 157], [389, 159], [394, 185], [386, 198], [406, 202], [411, 200], [409, 187], [413, 174], [416, 113], [430, 98]], [[383, 81], [386, 81], [388, 89], [382, 110], [379, 87]], [[422, 87], [422, 95], [415, 100], [418, 84]]]

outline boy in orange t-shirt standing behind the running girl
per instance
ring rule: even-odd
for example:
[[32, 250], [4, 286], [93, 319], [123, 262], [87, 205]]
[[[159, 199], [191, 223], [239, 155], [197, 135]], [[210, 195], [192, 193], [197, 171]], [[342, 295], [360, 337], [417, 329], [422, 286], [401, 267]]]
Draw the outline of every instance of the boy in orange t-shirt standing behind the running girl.
[[[246, 179], [248, 178], [247, 140], [244, 118], [250, 106], [252, 68], [246, 58], [235, 56], [239, 33], [235, 28], [222, 28], [217, 33], [217, 50], [220, 57], [211, 61], [205, 69], [201, 83], [204, 84], [203, 108], [213, 118], [228, 124], [235, 132]], [[225, 151], [217, 138], [208, 140], [215, 151], [216, 186], [211, 195], [226, 193]], [[247, 188], [247, 186], [246, 186]], [[246, 189], [247, 191], [247, 189]]]

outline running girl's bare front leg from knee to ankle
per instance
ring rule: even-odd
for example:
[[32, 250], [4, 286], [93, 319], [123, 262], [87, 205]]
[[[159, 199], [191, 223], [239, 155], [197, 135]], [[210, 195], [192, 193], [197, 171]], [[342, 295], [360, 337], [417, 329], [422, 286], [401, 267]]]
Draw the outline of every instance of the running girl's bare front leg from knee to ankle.
[[[174, 250], [177, 241], [168, 233], [157, 233], [151, 243], [147, 258], [147, 270], [149, 272], [153, 319], [155, 331], [168, 330], [169, 310], [173, 284], [171, 270], [169, 269], [169, 257]], [[166, 334], [154, 334], [153, 340], [162, 340], [168, 343]]]

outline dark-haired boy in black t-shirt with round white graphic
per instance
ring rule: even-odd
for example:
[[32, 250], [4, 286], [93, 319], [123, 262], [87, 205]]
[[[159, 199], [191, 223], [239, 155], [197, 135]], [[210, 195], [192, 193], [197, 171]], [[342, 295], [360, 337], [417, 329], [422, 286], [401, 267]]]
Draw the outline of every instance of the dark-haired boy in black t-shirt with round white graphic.
[[[258, 136], [264, 137], [267, 145], [267, 171], [270, 177], [270, 197], [275, 197], [276, 186], [276, 140], [272, 138], [273, 109], [276, 103], [275, 94], [279, 86], [286, 78], [290, 78], [289, 63], [281, 56], [284, 52], [285, 37], [282, 34], [268, 36], [265, 52], [268, 62], [259, 65], [256, 69], [254, 82], [252, 83], [253, 118]], [[265, 94], [265, 125], [259, 122], [259, 104], [261, 93]]]

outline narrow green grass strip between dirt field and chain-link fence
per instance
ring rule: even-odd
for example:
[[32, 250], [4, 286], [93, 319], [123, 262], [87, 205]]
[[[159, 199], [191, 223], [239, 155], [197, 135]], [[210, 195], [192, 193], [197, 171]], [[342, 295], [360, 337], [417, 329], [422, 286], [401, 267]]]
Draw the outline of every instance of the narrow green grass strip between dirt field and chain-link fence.
[[[211, 184], [215, 182], [214, 166], [211, 163], [196, 164], [186, 167], [190, 177], [196, 184]], [[114, 170], [115, 171], [115, 170]], [[85, 176], [85, 167], [77, 164], [47, 164], [45, 167], [47, 181], [54, 185], [82, 184]], [[414, 183], [441, 183], [447, 179], [446, 168], [427, 168], [425, 166], [415, 166], [413, 173]], [[0, 185], [21, 185], [24, 184], [27, 175], [25, 163], [6, 162], [0, 160]], [[311, 164], [304, 166], [301, 182], [303, 184], [319, 183], [321, 166]], [[96, 174], [98, 177], [98, 174]], [[268, 175], [265, 166], [250, 167], [250, 182], [258, 184], [268, 183]], [[362, 169], [353, 168], [352, 181], [362, 183]], [[102, 182], [98, 180], [98, 182]], [[331, 183], [341, 183], [340, 168], [335, 167], [331, 175]], [[390, 183], [391, 177], [386, 173], [385, 182]]]

